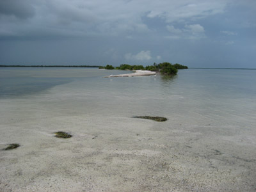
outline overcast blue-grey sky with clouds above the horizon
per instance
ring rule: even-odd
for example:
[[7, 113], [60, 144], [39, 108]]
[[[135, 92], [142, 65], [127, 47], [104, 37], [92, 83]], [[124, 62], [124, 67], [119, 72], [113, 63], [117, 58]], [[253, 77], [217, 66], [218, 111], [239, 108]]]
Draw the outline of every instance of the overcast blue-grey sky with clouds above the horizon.
[[0, 65], [154, 62], [256, 68], [256, 1], [0, 1]]

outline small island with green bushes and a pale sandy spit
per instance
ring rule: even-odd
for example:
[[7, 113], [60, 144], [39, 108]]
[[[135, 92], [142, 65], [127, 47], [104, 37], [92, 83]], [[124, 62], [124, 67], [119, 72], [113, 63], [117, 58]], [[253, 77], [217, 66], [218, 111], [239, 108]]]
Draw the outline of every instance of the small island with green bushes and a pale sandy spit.
[[172, 65], [172, 63], [164, 62], [154, 65], [148, 65], [147, 67], [143, 67], [143, 65], [128, 65], [128, 64], [122, 64], [120, 67], [113, 67], [112, 65], [106, 65], [106, 67], [99, 67], [107, 70], [132, 70], [134, 73], [132, 74], [120, 74], [120, 75], [110, 75], [106, 77], [134, 77], [134, 76], [152, 76], [156, 75], [157, 73], [161, 73], [166, 76], [174, 76], [177, 74], [178, 69], [186, 69], [188, 68], [185, 65], [180, 65], [179, 63], [176, 63]]

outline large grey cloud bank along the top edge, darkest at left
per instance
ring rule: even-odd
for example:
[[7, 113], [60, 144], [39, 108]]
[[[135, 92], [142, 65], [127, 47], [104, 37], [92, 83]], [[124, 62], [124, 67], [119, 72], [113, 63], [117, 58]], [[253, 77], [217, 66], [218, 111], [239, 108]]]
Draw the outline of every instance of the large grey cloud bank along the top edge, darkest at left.
[[28, 19], [28, 22], [10, 22], [7, 17], [1, 22], [12, 34], [31, 36], [44, 35], [123, 35], [150, 33], [142, 20], [158, 18], [166, 23], [184, 22], [223, 12], [225, 0], [200, 1], [82, 1], [3, 0], [1, 15]]

